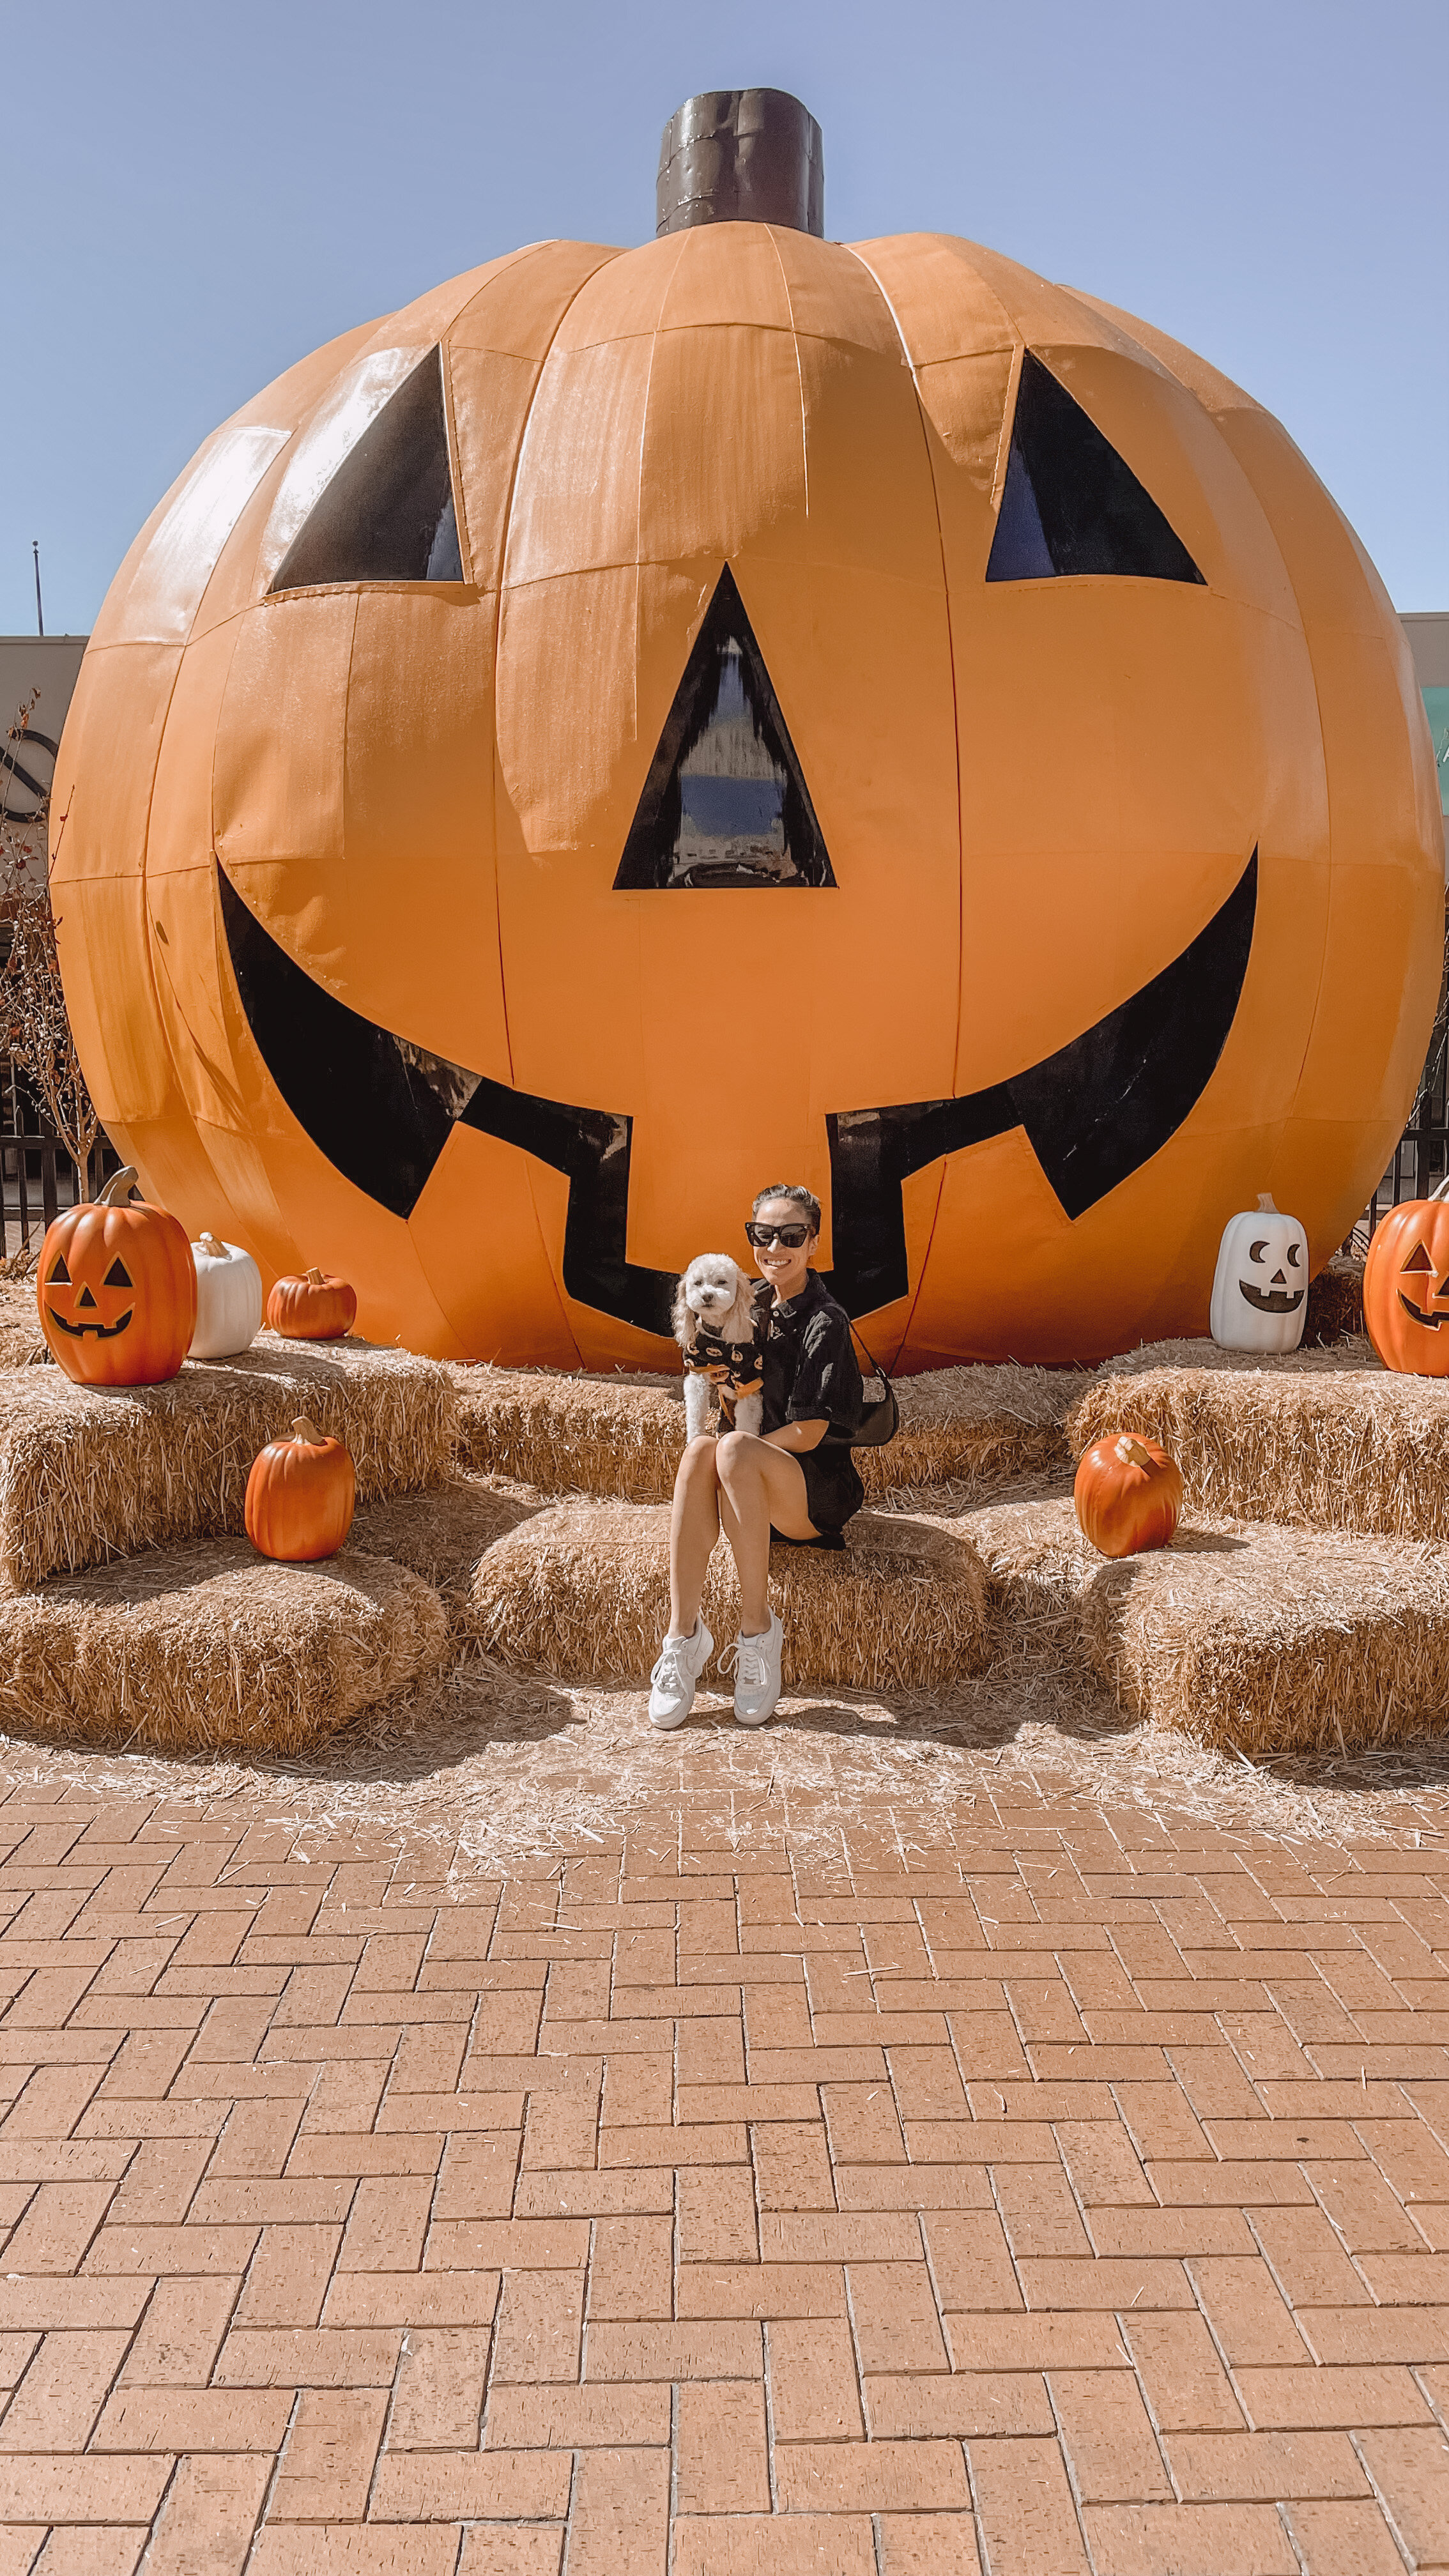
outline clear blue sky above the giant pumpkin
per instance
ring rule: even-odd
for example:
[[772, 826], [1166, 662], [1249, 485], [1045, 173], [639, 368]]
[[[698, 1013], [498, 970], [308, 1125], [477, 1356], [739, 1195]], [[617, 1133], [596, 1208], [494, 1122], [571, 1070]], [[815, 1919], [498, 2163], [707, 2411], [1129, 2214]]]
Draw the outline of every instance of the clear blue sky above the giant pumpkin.
[[85, 631], [206, 430], [544, 234], [652, 234], [660, 126], [773, 82], [825, 229], [936, 227], [1199, 348], [1400, 608], [1449, 608], [1444, 0], [0, 0], [0, 631]]

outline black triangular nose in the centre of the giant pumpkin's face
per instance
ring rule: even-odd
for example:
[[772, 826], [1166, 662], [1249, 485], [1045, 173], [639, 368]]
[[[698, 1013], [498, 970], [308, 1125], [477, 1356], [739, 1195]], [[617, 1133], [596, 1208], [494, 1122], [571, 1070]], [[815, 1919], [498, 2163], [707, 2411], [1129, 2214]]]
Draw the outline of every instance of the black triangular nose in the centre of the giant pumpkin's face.
[[730, 564], [676, 688], [614, 884], [835, 884]]

